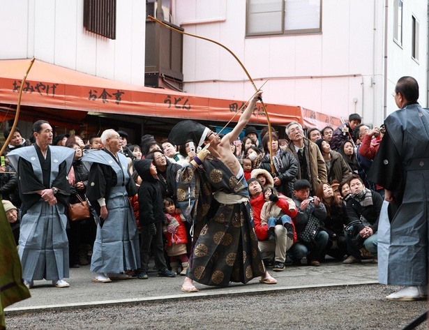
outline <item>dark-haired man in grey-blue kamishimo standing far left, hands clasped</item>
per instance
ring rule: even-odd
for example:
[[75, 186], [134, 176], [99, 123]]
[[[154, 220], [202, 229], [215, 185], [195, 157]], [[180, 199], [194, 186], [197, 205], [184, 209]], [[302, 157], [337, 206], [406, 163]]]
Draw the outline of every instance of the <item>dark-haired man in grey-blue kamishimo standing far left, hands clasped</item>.
[[21, 219], [19, 255], [24, 283], [52, 280], [56, 287], [70, 286], [68, 278], [68, 240], [66, 205], [70, 195], [68, 172], [75, 151], [50, 147], [52, 127], [47, 121], [33, 124], [36, 144], [14, 149], [8, 159], [17, 170], [20, 198], [24, 206]]

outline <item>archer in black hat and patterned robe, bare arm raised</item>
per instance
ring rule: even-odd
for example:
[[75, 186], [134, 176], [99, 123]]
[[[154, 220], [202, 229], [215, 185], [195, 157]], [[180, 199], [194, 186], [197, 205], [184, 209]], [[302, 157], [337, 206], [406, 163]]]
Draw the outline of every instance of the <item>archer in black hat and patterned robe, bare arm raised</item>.
[[181, 121], [170, 133], [174, 144], [190, 138], [197, 147], [205, 146], [177, 173], [177, 200], [183, 215], [205, 223], [190, 257], [183, 292], [198, 291], [193, 280], [226, 286], [261, 276], [260, 283], [277, 283], [264, 268], [243, 168], [229, 146], [248, 123], [259, 97], [255, 93], [234, 129], [222, 139], [195, 121]]

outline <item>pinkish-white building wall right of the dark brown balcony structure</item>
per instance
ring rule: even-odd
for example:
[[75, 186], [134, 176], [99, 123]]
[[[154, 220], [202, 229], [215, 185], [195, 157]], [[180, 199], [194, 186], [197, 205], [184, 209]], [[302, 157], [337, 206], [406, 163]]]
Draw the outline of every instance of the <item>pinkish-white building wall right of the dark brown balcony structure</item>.
[[[177, 0], [172, 18], [241, 59], [270, 103], [300, 105], [379, 125], [391, 93], [411, 75], [428, 106], [426, 0]], [[185, 38], [186, 91], [249, 98], [253, 89], [230, 54]]]

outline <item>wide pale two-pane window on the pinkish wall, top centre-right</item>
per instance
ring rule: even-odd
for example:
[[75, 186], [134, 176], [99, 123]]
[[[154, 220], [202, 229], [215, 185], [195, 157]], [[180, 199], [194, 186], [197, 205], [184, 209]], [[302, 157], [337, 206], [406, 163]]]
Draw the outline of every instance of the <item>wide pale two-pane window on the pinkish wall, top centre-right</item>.
[[322, 0], [247, 0], [247, 36], [322, 31]]

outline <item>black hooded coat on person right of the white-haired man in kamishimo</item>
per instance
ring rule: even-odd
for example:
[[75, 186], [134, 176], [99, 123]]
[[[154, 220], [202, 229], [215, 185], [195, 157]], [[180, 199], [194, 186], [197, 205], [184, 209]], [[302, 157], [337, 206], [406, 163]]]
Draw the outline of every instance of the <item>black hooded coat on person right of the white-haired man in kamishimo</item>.
[[140, 226], [161, 223], [165, 220], [163, 196], [159, 180], [151, 175], [151, 159], [137, 160], [135, 170], [142, 178], [139, 188], [139, 222]]

